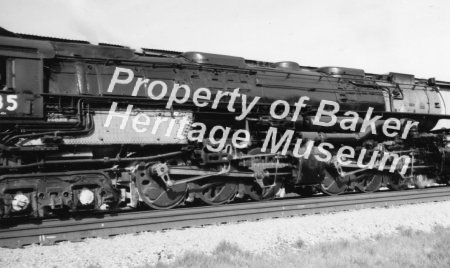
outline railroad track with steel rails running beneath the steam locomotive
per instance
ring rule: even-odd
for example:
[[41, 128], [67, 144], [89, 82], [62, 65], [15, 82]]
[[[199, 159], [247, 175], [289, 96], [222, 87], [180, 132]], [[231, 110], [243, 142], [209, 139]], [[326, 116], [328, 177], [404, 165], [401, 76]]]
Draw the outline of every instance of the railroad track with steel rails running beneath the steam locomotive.
[[0, 246], [16, 248], [34, 243], [48, 245], [60, 241], [80, 241], [88, 237], [444, 200], [450, 200], [450, 187], [98, 214], [68, 220], [48, 219], [0, 227]]

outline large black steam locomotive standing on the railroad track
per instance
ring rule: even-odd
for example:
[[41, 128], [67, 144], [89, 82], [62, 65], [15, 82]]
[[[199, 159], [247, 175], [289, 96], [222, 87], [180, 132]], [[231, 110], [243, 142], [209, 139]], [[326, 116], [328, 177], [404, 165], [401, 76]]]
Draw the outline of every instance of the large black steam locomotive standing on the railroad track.
[[[134, 80], [109, 91], [117, 68], [132, 70]], [[123, 74], [116, 78], [126, 79]], [[169, 90], [158, 100], [149, 99], [145, 90], [133, 96], [138, 79], [163, 81]], [[227, 109], [230, 95], [215, 109], [195, 105], [191, 98], [167, 109], [175, 85], [209, 89], [209, 104], [219, 92], [236, 88], [260, 100], [243, 120]], [[309, 101], [295, 117], [295, 109], [283, 119], [270, 116], [275, 101], [295, 108], [304, 96]], [[313, 124], [323, 100], [340, 106], [334, 126]], [[128, 112], [126, 126], [121, 127], [119, 119], [105, 126], [113, 104], [114, 112]], [[238, 100], [235, 105], [245, 104]], [[380, 116], [381, 123], [398, 119], [399, 131], [408, 121], [415, 124], [406, 138], [339, 128], [352, 111], [360, 117], [355, 122], [359, 129], [368, 110]], [[177, 131], [137, 132], [130, 124], [143, 116], [160, 118], [162, 130], [180, 129], [181, 119], [188, 118], [191, 130], [196, 122], [204, 124], [206, 132], [222, 125], [231, 134], [244, 129], [250, 138], [242, 146], [228, 138], [222, 149], [211, 150], [218, 133], [193, 142], [177, 138]], [[220, 205], [235, 198], [271, 199], [283, 192], [336, 195], [447, 183], [449, 119], [450, 83], [433, 78], [201, 52], [135, 51], [0, 29], [0, 217], [42, 218], [140, 205], [168, 209], [197, 201]], [[286, 145], [287, 154], [263, 150], [273, 128], [277, 137], [291, 131], [301, 138], [299, 150], [311, 140], [332, 144], [331, 159], [294, 157], [294, 141]], [[190, 135], [189, 130], [181, 135]], [[346, 159], [343, 165], [337, 159], [343, 146], [377, 152], [376, 167], [386, 153], [411, 161], [403, 173], [398, 166], [405, 163], [398, 158], [385, 159], [383, 168], [360, 168], [356, 159]], [[317, 145], [311, 148], [312, 155], [322, 153]]]

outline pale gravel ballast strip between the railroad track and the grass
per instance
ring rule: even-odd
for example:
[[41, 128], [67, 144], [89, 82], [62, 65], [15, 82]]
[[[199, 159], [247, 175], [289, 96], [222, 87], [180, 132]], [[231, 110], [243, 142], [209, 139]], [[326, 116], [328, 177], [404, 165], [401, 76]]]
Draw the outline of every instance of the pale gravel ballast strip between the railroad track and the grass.
[[438, 225], [450, 226], [450, 201], [144, 232], [54, 246], [1, 248], [0, 266], [140, 266], [170, 262], [186, 251], [210, 253], [222, 241], [250, 252], [281, 255], [293, 250], [295, 244], [371, 239], [401, 228], [430, 231]]

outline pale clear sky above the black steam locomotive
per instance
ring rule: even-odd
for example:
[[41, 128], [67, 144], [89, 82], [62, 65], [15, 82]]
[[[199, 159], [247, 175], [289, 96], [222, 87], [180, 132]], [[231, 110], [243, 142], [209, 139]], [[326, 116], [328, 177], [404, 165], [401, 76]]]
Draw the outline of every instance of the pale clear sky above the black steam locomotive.
[[450, 81], [445, 0], [0, 0], [18, 33]]

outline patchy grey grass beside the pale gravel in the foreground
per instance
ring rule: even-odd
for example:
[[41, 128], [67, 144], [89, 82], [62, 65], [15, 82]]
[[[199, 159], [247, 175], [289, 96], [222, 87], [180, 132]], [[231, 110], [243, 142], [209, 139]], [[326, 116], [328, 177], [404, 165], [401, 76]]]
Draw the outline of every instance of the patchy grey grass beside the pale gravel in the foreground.
[[393, 236], [309, 247], [298, 239], [281, 256], [253, 254], [222, 242], [212, 254], [187, 252], [156, 267], [450, 267], [450, 228], [397, 230]]

